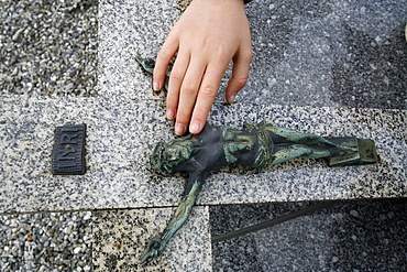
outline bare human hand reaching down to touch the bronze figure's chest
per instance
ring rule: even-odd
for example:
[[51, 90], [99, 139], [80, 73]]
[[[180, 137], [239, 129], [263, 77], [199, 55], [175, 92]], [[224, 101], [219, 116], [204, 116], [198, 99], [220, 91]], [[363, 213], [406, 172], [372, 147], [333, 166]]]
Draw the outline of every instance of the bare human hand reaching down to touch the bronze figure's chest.
[[176, 119], [175, 133], [199, 133], [215, 101], [222, 76], [233, 61], [226, 90], [228, 102], [246, 84], [252, 45], [243, 0], [194, 0], [172, 29], [157, 54], [153, 89], [163, 88], [170, 59], [166, 117]]

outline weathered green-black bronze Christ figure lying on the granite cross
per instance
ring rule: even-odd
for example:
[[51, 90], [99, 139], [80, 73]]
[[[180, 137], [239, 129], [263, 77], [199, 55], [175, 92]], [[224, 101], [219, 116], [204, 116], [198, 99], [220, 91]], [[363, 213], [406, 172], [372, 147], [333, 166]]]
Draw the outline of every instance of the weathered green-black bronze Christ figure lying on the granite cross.
[[207, 124], [197, 135], [160, 142], [151, 155], [152, 167], [161, 174], [187, 172], [189, 178], [174, 216], [165, 230], [147, 243], [141, 261], [157, 257], [188, 219], [210, 171], [237, 164], [267, 167], [297, 157], [323, 157], [329, 166], [371, 164], [378, 160], [372, 140], [321, 138], [265, 122], [246, 123], [242, 130]]

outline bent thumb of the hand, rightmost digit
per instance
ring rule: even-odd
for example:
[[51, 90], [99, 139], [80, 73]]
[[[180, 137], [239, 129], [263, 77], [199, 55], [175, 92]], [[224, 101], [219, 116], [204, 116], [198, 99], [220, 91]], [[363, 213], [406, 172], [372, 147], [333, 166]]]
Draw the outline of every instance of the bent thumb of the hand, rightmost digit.
[[248, 83], [250, 62], [252, 61], [252, 48], [239, 52], [233, 57], [232, 77], [229, 79], [226, 98], [229, 104], [234, 101], [239, 90]]

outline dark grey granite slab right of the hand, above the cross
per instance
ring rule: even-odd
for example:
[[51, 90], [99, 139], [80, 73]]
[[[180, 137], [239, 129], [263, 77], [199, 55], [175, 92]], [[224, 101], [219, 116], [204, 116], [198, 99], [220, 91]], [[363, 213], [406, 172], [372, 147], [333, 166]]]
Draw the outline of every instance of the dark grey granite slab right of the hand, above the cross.
[[248, 102], [407, 109], [407, 4], [254, 0]]

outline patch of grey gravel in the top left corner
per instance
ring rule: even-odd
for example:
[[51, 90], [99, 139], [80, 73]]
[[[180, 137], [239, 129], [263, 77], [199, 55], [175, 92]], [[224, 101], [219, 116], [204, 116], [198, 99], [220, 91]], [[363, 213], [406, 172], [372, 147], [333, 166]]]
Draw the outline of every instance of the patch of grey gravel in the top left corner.
[[98, 1], [0, 1], [1, 94], [96, 95]]

